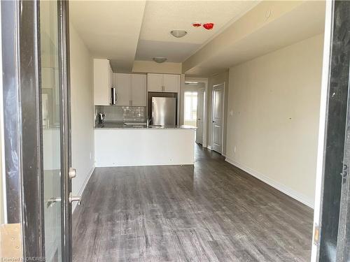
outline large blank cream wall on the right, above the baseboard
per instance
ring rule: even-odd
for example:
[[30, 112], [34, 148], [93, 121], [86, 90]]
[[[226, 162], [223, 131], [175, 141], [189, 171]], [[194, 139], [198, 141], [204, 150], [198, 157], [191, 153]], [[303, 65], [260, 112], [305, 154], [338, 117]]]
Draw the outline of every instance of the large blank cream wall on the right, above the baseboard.
[[311, 207], [322, 54], [318, 35], [229, 74], [227, 160]]

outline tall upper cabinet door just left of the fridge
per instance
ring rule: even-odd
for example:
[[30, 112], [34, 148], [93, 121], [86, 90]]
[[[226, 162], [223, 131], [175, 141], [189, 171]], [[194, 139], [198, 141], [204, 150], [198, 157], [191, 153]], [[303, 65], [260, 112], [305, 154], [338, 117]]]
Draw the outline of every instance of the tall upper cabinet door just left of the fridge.
[[134, 106], [146, 106], [146, 75], [132, 74], [131, 101]]

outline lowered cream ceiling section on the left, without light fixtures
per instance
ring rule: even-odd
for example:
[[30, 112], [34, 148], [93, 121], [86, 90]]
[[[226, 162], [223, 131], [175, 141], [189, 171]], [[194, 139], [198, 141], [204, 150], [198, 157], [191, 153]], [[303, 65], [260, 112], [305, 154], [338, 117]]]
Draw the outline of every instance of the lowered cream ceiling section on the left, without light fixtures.
[[70, 20], [92, 56], [130, 71], [144, 17], [144, 1], [69, 1]]

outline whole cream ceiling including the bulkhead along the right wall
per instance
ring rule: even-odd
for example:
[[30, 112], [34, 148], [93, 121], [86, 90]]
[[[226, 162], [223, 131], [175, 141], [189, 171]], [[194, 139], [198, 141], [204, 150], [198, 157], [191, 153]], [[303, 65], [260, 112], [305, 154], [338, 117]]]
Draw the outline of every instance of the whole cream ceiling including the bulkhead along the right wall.
[[[260, 14], [258, 10], [274, 1], [74, 0], [69, 3], [73, 27], [92, 56], [111, 59], [113, 71], [118, 72], [131, 72], [134, 60], [167, 57], [170, 62], [185, 62], [183, 68], [186, 66], [188, 74], [215, 73], [321, 33], [324, 24], [324, 1], [300, 1], [297, 8], [285, 12], [280, 19], [264, 22], [250, 35], [235, 41], [232, 37], [235, 34], [229, 29], [235, 28], [239, 17], [261, 3], [252, 10], [256, 9], [258, 15], [253, 18], [260, 19], [265, 11]], [[286, 2], [287, 9], [293, 6], [290, 3]], [[215, 25], [214, 29], [205, 30], [193, 27], [193, 22]], [[173, 29], [184, 29], [188, 34], [175, 38], [169, 34]], [[227, 32], [231, 32], [225, 38], [227, 41], [211, 45]], [[208, 52], [200, 53], [201, 48]]]

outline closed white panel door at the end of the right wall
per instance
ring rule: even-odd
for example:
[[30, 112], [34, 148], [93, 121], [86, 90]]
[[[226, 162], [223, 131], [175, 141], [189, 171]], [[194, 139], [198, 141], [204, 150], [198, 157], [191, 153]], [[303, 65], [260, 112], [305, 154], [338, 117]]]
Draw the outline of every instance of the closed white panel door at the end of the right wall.
[[212, 148], [214, 151], [222, 154], [223, 152], [223, 85], [217, 85], [213, 88], [212, 103]]

